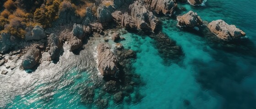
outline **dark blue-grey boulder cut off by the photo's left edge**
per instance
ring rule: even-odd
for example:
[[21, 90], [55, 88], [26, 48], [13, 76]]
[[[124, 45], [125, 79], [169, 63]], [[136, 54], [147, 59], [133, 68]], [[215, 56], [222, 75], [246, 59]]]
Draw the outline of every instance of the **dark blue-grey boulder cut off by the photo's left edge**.
[[11, 50], [11, 48], [15, 45], [13, 38], [11, 38], [10, 34], [1, 33], [0, 39], [0, 53], [6, 53], [7, 51]]

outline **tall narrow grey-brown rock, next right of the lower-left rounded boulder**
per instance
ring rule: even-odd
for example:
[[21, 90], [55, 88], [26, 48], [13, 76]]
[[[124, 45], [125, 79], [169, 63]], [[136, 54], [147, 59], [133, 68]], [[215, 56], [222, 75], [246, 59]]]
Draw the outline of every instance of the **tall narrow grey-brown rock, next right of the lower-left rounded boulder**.
[[50, 50], [48, 53], [50, 54], [50, 59], [54, 60], [60, 55], [60, 50], [62, 47], [62, 43], [60, 42], [60, 39], [57, 35], [51, 34], [49, 36], [48, 46]]

